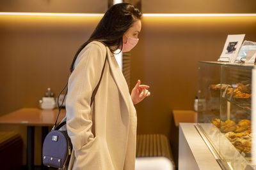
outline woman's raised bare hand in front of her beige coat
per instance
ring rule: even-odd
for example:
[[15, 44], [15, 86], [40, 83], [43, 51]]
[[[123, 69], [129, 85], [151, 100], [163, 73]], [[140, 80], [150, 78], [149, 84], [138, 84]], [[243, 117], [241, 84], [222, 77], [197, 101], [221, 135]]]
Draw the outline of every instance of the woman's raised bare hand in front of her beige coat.
[[138, 83], [135, 85], [131, 92], [132, 103], [138, 104], [143, 99], [145, 99], [145, 97], [150, 96], [150, 92], [147, 90], [148, 88], [148, 85], [140, 85], [140, 80], [138, 80]]

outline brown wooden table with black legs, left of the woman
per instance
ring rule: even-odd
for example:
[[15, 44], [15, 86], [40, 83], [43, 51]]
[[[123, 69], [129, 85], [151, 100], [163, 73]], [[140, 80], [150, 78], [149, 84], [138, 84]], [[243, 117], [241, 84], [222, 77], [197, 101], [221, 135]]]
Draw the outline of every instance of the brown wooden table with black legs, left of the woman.
[[[58, 123], [65, 117], [65, 110], [61, 110]], [[38, 108], [22, 108], [0, 117], [0, 124], [25, 125], [27, 127], [27, 166], [34, 168], [34, 138], [35, 126], [42, 127], [42, 143], [48, 133], [48, 127], [52, 127], [58, 116], [58, 110], [40, 110]]]

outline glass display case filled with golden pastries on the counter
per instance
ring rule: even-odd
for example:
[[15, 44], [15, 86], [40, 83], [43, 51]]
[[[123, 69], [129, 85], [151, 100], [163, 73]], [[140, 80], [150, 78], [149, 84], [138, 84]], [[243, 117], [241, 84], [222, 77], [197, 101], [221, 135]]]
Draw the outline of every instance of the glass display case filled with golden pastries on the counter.
[[254, 64], [199, 62], [198, 124], [222, 169], [256, 169], [252, 161]]

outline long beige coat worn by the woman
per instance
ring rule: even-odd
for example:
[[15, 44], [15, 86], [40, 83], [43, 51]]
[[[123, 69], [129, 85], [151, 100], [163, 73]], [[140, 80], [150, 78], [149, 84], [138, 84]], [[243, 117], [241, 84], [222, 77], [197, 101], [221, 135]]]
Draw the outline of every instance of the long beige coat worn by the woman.
[[[108, 60], [90, 107], [106, 51]], [[73, 145], [68, 169], [134, 169], [136, 110], [115, 56], [108, 47], [93, 41], [81, 51], [75, 67], [68, 80], [66, 101], [67, 131]]]

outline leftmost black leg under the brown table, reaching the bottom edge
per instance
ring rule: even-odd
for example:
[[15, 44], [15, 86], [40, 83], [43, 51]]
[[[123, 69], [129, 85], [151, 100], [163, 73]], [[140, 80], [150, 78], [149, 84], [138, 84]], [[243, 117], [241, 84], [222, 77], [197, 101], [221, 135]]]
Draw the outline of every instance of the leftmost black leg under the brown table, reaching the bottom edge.
[[34, 149], [35, 149], [35, 127], [28, 126], [27, 134], [27, 166], [28, 170], [34, 169]]

